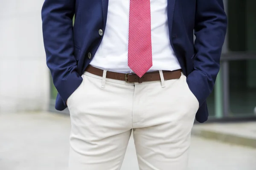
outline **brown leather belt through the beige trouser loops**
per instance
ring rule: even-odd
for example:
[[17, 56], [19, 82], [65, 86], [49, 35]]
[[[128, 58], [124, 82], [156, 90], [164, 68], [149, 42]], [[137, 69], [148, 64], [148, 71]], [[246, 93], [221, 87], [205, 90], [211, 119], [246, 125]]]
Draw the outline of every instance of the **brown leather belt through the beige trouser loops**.
[[[102, 77], [103, 75], [103, 70], [99, 68], [95, 68], [91, 65], [89, 65], [86, 70], [87, 72], [91, 74], [95, 74], [97, 76]], [[175, 71], [163, 71], [163, 77], [165, 80], [169, 79], [179, 79], [181, 76], [181, 69], [180, 70], [175, 70]], [[154, 71], [154, 72], [148, 72], [143, 75], [143, 77], [138, 77], [136, 74], [124, 74], [124, 73], [116, 73], [116, 72], [111, 72], [107, 71], [107, 76], [106, 78], [108, 79], [116, 79], [116, 80], [122, 80], [125, 82], [149, 82], [149, 81], [160, 81], [160, 74], [159, 71]]]

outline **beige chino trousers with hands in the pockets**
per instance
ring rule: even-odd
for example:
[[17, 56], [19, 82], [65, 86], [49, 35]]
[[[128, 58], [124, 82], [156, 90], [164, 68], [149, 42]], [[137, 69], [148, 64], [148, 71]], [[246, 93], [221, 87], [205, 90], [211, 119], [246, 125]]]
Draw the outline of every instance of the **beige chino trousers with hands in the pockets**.
[[120, 170], [132, 130], [140, 170], [186, 170], [199, 108], [186, 77], [139, 84], [105, 74], [85, 72], [67, 100], [69, 170]]

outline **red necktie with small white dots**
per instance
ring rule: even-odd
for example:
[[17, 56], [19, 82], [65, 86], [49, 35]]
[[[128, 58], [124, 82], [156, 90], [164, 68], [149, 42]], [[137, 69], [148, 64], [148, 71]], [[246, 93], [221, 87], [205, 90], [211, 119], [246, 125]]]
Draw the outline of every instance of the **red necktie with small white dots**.
[[150, 0], [130, 0], [128, 66], [139, 77], [152, 67]]

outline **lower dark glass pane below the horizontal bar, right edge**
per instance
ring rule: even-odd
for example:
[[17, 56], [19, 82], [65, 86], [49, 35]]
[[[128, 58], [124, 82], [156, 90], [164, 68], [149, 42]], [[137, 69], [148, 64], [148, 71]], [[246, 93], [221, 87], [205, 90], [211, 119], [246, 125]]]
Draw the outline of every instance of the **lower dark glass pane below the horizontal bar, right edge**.
[[230, 61], [230, 114], [253, 114], [256, 107], [256, 59]]

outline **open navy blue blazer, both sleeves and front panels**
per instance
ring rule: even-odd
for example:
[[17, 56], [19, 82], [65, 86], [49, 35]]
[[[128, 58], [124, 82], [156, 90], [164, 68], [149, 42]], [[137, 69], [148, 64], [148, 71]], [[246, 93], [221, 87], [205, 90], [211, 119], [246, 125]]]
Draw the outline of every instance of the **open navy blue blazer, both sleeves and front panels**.
[[[44, 47], [58, 91], [57, 110], [67, 108], [68, 97], [81, 84], [81, 75], [102, 41], [99, 29], [105, 31], [107, 14], [108, 0], [44, 1]], [[170, 44], [200, 104], [196, 120], [205, 122], [206, 99], [220, 68], [227, 30], [223, 0], [168, 0], [168, 22]]]

